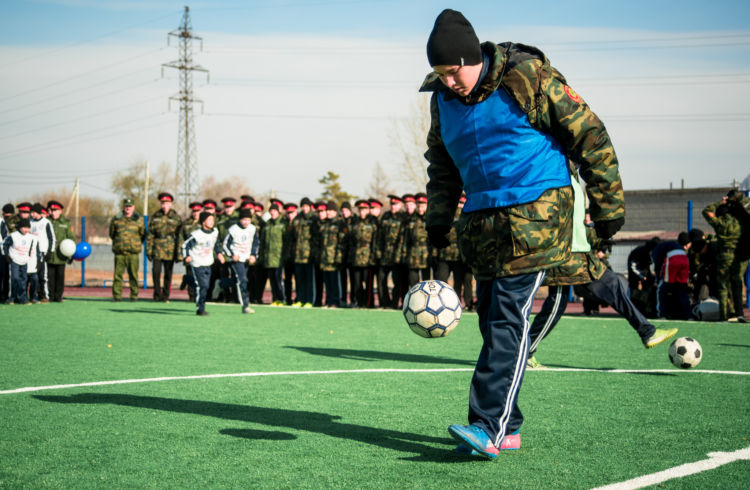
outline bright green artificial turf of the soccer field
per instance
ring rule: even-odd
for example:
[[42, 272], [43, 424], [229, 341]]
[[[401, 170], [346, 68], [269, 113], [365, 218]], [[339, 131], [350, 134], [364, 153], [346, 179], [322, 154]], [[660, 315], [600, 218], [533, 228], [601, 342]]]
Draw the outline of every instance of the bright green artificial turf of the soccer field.
[[[591, 488], [750, 447], [750, 376], [673, 368], [621, 319], [563, 318], [537, 358], [593, 371], [527, 371], [522, 448], [487, 461], [446, 431], [466, 421], [475, 315], [428, 340], [394, 311], [239, 310], [0, 306], [0, 390], [287, 373], [0, 394], [0, 487]], [[670, 325], [703, 346], [698, 369], [750, 372], [749, 327]], [[737, 461], [659, 488], [749, 481]]]

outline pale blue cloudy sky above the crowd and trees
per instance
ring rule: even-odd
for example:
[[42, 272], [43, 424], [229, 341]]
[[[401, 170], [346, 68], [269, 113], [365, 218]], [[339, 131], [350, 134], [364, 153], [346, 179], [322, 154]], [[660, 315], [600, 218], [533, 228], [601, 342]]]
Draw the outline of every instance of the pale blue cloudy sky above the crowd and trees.
[[[0, 201], [80, 177], [174, 165], [167, 104], [185, 2], [0, 2]], [[626, 189], [725, 186], [750, 174], [750, 2], [199, 1], [195, 76], [201, 176], [296, 200], [328, 170], [365, 195], [376, 164], [398, 179], [392, 134], [413, 119], [424, 43], [446, 7], [482, 40], [540, 47], [602, 117]], [[418, 112], [417, 112], [418, 113]], [[44, 178], [25, 178], [29, 173]], [[36, 180], [36, 181], [35, 181]]]

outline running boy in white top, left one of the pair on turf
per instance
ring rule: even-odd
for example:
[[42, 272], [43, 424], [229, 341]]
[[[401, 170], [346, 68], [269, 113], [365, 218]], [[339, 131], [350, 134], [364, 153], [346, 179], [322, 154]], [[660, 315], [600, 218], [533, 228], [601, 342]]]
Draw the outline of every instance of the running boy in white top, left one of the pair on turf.
[[195, 279], [195, 314], [198, 316], [208, 316], [206, 297], [214, 254], [216, 254], [220, 263], [224, 263], [224, 255], [221, 253], [220, 243], [217, 241], [219, 232], [214, 228], [215, 219], [213, 214], [202, 212], [198, 217], [200, 228], [190, 233], [187, 240], [182, 243], [182, 256], [185, 257], [185, 266], [190, 268]]

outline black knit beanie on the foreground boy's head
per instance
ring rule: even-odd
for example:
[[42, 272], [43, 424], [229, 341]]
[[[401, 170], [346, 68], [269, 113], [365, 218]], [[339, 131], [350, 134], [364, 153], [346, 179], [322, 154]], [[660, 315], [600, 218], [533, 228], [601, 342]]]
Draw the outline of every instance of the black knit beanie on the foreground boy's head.
[[427, 40], [430, 66], [478, 65], [482, 62], [479, 38], [461, 12], [443, 10]]

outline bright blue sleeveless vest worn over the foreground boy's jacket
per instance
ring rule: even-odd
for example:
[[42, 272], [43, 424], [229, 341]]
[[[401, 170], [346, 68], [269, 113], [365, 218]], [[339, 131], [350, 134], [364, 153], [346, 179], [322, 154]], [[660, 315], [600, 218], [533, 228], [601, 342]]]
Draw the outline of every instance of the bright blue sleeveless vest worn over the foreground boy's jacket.
[[437, 96], [440, 132], [464, 182], [464, 212], [534, 202], [570, 185], [560, 144], [534, 129], [505, 90], [474, 105], [445, 95]]

